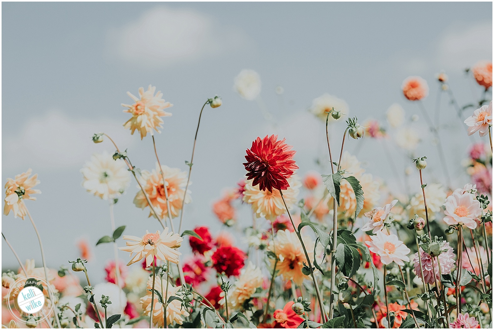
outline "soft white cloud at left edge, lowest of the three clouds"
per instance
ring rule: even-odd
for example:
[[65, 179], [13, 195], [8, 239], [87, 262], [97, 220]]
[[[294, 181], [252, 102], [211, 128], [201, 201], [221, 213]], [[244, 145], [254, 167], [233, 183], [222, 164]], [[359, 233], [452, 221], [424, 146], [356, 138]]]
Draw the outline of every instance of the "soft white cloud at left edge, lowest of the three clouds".
[[121, 148], [129, 147], [135, 141], [130, 132], [114, 120], [76, 120], [51, 111], [41, 118], [31, 119], [19, 134], [4, 139], [2, 156], [8, 161], [3, 165], [18, 171], [33, 168], [35, 172], [82, 166], [94, 152], [115, 150], [110, 141], [92, 142], [92, 135], [99, 132], [107, 133]]

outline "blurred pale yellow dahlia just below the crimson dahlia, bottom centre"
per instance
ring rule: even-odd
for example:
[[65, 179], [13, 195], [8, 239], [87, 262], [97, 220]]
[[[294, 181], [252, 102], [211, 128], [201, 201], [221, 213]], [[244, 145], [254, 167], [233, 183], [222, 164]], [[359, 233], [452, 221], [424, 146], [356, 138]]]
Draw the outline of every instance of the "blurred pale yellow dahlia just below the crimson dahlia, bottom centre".
[[[262, 286], [262, 272], [259, 267], [254, 266], [252, 262], [249, 262], [247, 267], [242, 269], [239, 279], [233, 284], [228, 291], [228, 308], [239, 309], [242, 307], [244, 301], [255, 293], [257, 288]], [[220, 300], [220, 304], [225, 304], [225, 293], [220, 293], [223, 297]]]

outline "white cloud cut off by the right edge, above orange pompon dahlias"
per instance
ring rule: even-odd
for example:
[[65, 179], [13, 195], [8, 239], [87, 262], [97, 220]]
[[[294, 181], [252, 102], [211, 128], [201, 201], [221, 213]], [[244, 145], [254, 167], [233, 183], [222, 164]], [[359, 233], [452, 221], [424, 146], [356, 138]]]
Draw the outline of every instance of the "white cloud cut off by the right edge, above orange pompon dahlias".
[[452, 28], [439, 42], [438, 62], [444, 69], [462, 70], [492, 59], [492, 22]]

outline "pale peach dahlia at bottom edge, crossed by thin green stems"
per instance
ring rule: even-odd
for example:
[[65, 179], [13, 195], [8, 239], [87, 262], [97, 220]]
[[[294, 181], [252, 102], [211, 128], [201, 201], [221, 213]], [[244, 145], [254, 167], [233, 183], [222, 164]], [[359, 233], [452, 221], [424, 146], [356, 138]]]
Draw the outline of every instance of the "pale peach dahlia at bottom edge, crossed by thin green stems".
[[[162, 283], [157, 280], [154, 286], [155, 290], [160, 293], [166, 294], [166, 282]], [[142, 309], [144, 310], [143, 315], [150, 316], [151, 315], [151, 299], [152, 299], [152, 291], [153, 289], [153, 279], [149, 279], [147, 283], [147, 294], [141, 298]], [[180, 291], [182, 287], [174, 287], [171, 284], [168, 284], [168, 297], [177, 296], [177, 292]], [[182, 324], [184, 319], [188, 317], [190, 314], [186, 308], [183, 308], [181, 302], [179, 300], [172, 300], [166, 304], [166, 324], [171, 325], [173, 322], [177, 324]], [[158, 295], [154, 295], [154, 303], [153, 303], [153, 324], [157, 328], [164, 328], [164, 320], [165, 320], [165, 311], [163, 309], [163, 305], [160, 302]]]

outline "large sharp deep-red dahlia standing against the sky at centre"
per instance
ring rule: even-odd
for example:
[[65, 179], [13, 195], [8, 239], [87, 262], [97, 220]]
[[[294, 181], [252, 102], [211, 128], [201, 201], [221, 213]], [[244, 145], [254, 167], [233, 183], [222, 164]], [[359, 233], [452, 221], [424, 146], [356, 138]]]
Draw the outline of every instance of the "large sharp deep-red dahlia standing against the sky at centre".
[[257, 138], [252, 147], [247, 149], [244, 166], [247, 170], [247, 180], [253, 179], [252, 185], [259, 184], [259, 190], [288, 189], [288, 179], [298, 168], [292, 159], [295, 154], [292, 146], [285, 139], [278, 140], [278, 135]]

